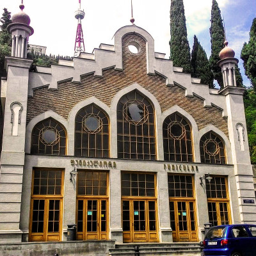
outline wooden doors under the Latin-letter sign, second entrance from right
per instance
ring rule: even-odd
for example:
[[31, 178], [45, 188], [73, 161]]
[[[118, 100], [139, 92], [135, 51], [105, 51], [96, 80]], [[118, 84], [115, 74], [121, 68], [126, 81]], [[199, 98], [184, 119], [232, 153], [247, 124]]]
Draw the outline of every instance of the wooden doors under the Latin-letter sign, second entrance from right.
[[170, 201], [170, 221], [173, 241], [198, 241], [194, 201]]

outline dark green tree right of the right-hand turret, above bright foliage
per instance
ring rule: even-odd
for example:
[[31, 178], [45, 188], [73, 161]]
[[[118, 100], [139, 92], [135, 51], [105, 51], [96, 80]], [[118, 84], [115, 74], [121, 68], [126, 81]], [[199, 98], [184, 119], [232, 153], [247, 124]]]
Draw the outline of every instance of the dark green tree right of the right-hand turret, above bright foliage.
[[248, 44], [244, 43], [241, 59], [244, 61], [245, 74], [256, 92], [256, 18], [252, 22], [250, 40]]

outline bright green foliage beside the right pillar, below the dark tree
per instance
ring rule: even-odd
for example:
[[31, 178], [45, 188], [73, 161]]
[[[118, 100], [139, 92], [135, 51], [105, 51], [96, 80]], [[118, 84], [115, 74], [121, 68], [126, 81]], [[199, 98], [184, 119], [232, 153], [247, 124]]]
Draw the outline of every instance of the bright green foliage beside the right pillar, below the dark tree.
[[256, 163], [256, 93], [253, 88], [244, 93], [244, 108], [252, 163]]

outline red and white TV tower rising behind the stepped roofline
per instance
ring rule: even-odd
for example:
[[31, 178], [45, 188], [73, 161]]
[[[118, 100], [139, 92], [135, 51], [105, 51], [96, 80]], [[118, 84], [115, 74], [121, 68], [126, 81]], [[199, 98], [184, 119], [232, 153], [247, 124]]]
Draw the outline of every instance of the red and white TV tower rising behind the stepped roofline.
[[79, 9], [75, 12], [75, 18], [78, 20], [77, 30], [76, 30], [76, 43], [75, 43], [75, 57], [79, 57], [80, 52], [84, 52], [84, 37], [81, 20], [84, 19], [84, 11], [81, 10], [81, 0], [79, 1]]

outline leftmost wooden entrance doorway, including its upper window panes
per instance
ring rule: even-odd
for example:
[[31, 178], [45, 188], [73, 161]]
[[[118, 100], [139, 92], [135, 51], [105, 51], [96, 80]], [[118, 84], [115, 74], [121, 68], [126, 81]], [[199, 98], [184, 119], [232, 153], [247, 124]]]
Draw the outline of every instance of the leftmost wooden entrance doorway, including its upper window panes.
[[29, 241], [61, 241], [63, 171], [33, 170]]

